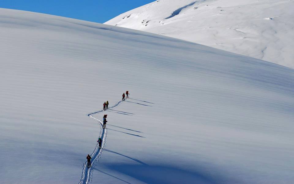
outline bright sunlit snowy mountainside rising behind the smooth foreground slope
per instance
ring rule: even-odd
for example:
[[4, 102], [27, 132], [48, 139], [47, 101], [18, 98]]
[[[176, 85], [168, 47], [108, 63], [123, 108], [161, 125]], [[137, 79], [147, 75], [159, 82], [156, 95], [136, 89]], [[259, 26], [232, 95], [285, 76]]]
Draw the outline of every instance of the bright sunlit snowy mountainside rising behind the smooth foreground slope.
[[160, 0], [104, 24], [200, 43], [294, 68], [293, 0]]

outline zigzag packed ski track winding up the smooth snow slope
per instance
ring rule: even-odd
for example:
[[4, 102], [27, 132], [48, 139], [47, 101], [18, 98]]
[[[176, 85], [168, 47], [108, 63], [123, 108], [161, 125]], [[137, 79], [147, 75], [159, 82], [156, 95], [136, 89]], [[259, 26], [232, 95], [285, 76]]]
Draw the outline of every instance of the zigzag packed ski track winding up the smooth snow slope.
[[[122, 102], [123, 101], [118, 101], [118, 102], [116, 102], [115, 105], [113, 105], [112, 107], [109, 107], [108, 109], [117, 107]], [[83, 172], [82, 172], [82, 176], [81, 176], [81, 181], [79, 182], [79, 184], [84, 184], [84, 183], [87, 184], [87, 183], [91, 182], [91, 180], [92, 180], [92, 171], [93, 171], [92, 167], [100, 159], [100, 157], [101, 157], [101, 155], [103, 153], [105, 144], [106, 144], [106, 138], [107, 138], [108, 130], [107, 130], [107, 128], [105, 128], [105, 129], [103, 128], [103, 122], [101, 120], [93, 117], [94, 114], [98, 114], [98, 113], [103, 112], [103, 111], [104, 110], [100, 110], [100, 111], [97, 111], [97, 112], [92, 112], [92, 113], [87, 114], [87, 116], [89, 116], [89, 117], [91, 117], [94, 120], [99, 122], [100, 129], [101, 129], [99, 137], [101, 137], [101, 139], [102, 139], [102, 145], [101, 145], [101, 148], [99, 148], [99, 144], [98, 143], [96, 144], [96, 147], [95, 147], [93, 153], [91, 154], [91, 157], [92, 157], [91, 167], [88, 168], [87, 162], [84, 163]]]

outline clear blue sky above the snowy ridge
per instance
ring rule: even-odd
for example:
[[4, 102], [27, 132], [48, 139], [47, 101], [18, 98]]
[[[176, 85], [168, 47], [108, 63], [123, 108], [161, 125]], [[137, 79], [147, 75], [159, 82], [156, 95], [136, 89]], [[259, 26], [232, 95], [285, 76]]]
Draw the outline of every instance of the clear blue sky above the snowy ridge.
[[47, 13], [104, 23], [155, 0], [0, 0], [0, 8]]

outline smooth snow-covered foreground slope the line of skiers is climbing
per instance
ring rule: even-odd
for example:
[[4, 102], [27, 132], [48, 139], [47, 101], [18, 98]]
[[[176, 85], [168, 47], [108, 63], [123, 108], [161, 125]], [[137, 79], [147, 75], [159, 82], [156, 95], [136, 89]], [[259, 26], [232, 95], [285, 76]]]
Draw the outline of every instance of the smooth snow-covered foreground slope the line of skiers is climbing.
[[0, 38], [1, 183], [294, 182], [293, 69], [9, 9]]

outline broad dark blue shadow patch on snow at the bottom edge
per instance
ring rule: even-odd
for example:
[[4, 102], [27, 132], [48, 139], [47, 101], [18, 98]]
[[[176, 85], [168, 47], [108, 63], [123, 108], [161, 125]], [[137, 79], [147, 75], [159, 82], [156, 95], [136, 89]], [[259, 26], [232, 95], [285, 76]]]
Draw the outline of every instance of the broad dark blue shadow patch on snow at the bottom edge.
[[217, 183], [216, 178], [201, 170], [185, 171], [175, 167], [134, 164], [111, 164], [107, 167], [145, 183]]

